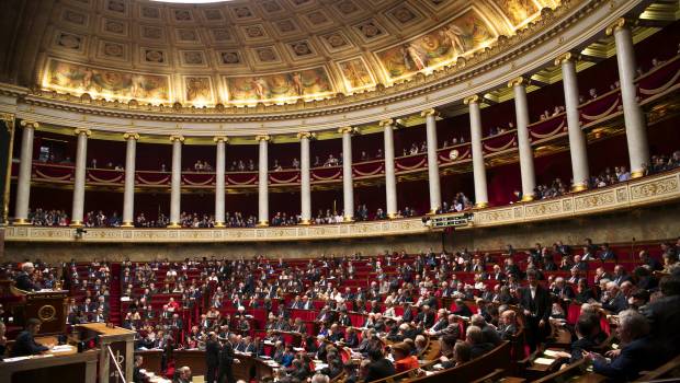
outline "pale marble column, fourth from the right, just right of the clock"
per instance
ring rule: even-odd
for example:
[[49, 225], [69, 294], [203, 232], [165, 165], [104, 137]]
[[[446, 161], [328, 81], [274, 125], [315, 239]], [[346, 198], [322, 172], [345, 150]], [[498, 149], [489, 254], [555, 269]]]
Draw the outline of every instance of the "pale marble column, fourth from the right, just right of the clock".
[[481, 209], [489, 206], [486, 186], [486, 166], [481, 149], [481, 116], [479, 115], [479, 96], [472, 95], [464, 100], [469, 107], [469, 137], [473, 149], [473, 176], [475, 178], [475, 207]]

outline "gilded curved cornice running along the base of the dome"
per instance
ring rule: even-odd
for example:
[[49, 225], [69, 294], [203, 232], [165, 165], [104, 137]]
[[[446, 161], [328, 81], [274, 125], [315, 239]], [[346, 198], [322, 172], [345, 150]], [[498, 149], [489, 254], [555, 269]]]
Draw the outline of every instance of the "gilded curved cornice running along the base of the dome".
[[257, 107], [195, 108], [135, 105], [133, 108], [125, 103], [104, 100], [92, 100], [90, 104], [84, 106], [79, 105], [80, 97], [75, 95], [34, 91], [22, 101], [29, 105], [41, 105], [76, 113], [159, 121], [262, 123], [344, 114], [415, 97], [427, 97], [428, 94], [445, 90], [453, 84], [471, 80], [474, 82], [474, 79], [479, 74], [505, 66], [536, 48], [604, 3], [607, 3], [604, 0], [565, 0], [555, 10], [544, 9], [540, 20], [528, 24], [517, 34], [510, 37], [499, 36], [496, 43], [486, 49], [465, 59], [461, 58], [453, 66], [439, 68], [427, 76], [416, 76], [410, 81], [395, 83], [392, 86], [378, 86], [372, 92], [356, 93], [344, 97]]

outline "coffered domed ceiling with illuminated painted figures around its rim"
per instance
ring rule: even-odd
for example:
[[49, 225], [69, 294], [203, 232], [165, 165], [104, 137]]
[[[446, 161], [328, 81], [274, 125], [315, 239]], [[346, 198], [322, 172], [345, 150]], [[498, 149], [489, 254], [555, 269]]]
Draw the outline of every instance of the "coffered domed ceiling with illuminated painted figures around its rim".
[[454, 65], [559, 0], [61, 0], [43, 89], [152, 104], [294, 103]]

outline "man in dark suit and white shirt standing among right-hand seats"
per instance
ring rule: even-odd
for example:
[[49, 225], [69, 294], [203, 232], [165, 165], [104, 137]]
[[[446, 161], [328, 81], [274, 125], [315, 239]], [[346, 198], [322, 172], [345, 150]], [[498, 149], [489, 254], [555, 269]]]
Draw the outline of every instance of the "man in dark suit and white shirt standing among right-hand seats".
[[520, 289], [520, 306], [526, 320], [526, 343], [533, 352], [551, 332], [548, 318], [552, 304], [549, 292], [539, 285], [534, 270], [526, 271], [526, 281], [529, 286]]

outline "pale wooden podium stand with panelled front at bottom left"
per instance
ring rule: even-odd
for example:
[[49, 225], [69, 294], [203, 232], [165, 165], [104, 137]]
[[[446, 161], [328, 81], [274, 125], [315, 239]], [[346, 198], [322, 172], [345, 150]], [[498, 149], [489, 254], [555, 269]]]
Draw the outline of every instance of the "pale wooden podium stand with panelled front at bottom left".
[[[99, 348], [99, 383], [133, 381], [135, 332], [105, 323], [88, 323], [75, 326], [78, 337], [88, 343], [94, 340]], [[114, 362], [115, 361], [115, 362]]]

